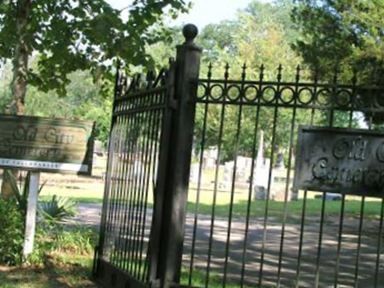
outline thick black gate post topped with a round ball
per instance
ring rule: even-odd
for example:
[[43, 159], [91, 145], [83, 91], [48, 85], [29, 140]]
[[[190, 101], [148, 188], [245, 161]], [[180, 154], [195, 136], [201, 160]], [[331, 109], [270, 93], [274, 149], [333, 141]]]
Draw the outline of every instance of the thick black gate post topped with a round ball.
[[185, 42], [177, 46], [174, 100], [162, 207], [157, 276], [161, 287], [176, 287], [183, 254], [189, 172], [191, 163], [195, 97], [201, 49], [193, 42], [197, 27], [183, 28]]

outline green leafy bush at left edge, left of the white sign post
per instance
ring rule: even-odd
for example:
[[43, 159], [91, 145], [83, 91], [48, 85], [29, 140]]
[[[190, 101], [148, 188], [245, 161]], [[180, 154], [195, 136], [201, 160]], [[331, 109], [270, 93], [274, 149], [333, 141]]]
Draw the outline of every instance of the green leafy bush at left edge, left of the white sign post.
[[0, 223], [0, 264], [20, 264], [24, 242], [24, 220], [16, 201], [5, 201], [0, 198]]

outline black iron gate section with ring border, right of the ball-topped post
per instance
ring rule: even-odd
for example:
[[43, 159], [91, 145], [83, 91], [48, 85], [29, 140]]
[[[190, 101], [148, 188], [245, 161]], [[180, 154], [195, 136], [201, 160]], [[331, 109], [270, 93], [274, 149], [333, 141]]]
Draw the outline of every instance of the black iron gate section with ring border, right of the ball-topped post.
[[259, 71], [199, 80], [183, 284], [380, 287], [383, 200], [292, 182], [299, 126], [373, 129], [382, 90]]

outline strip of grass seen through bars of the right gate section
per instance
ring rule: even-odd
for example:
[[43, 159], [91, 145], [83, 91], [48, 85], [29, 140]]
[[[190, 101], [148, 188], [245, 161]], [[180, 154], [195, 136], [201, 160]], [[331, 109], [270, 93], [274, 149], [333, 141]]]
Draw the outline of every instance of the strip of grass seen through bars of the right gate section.
[[[309, 192], [306, 201], [306, 216], [317, 216], [321, 213], [322, 200], [315, 199], [315, 195], [319, 193]], [[228, 217], [231, 203], [231, 191], [218, 190], [216, 193], [216, 204], [214, 205], [214, 213], [219, 217]], [[266, 206], [268, 205], [268, 216], [282, 218], [286, 209], [289, 217], [301, 217], [303, 212], [303, 195], [299, 195], [299, 200], [288, 201], [265, 201], [251, 200], [248, 207], [249, 191], [247, 189], [236, 189], [232, 199], [232, 215], [235, 217], [245, 217], [248, 213], [250, 217], [264, 217]], [[210, 189], [201, 189], [199, 194], [199, 205], [196, 205], [197, 190], [192, 187], [188, 195], [188, 211], [197, 212], [199, 214], [211, 215], [213, 211], [214, 191]], [[345, 216], [359, 216], [361, 209], [361, 197], [347, 196], [344, 207]], [[196, 207], [197, 206], [197, 207]], [[381, 201], [375, 198], [367, 198], [365, 201], [364, 216], [368, 218], [379, 218], [381, 213]], [[326, 201], [325, 216], [340, 215], [341, 201]]]

